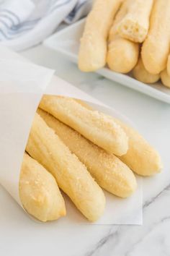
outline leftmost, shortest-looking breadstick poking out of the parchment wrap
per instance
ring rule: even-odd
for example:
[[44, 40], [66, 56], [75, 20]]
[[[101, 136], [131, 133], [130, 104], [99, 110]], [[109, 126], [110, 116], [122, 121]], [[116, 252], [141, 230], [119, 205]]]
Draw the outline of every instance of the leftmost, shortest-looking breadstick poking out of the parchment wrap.
[[19, 179], [19, 196], [25, 210], [40, 221], [53, 221], [66, 215], [55, 179], [26, 153]]

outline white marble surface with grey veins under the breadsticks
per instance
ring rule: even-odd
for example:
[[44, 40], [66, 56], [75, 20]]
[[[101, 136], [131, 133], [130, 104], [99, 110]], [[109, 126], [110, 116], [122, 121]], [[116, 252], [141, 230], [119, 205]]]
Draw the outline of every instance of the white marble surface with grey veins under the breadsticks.
[[79, 72], [54, 51], [37, 46], [23, 56], [128, 116], [164, 162], [157, 176], [143, 179], [143, 226], [38, 223], [0, 187], [0, 255], [170, 255], [170, 105], [122, 87], [97, 74]]

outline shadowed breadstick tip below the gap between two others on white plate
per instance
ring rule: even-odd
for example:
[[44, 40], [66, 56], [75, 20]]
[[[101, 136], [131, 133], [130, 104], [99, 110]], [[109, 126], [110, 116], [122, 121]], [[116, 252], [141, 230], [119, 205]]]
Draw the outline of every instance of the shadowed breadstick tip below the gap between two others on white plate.
[[157, 82], [160, 79], [160, 74], [151, 74], [149, 73], [143, 65], [143, 61], [140, 58], [138, 64], [133, 69], [133, 77], [139, 80], [140, 82], [153, 83]]

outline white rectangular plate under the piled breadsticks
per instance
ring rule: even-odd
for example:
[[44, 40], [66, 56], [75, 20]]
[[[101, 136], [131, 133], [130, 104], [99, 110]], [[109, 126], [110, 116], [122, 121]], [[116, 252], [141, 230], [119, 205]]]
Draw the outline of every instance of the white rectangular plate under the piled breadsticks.
[[[55, 51], [58, 51], [68, 57], [71, 61], [77, 63], [79, 42], [83, 30], [84, 20], [80, 20], [79, 22], [76, 22], [75, 24], [50, 36], [50, 38], [44, 41], [44, 44], [45, 46], [53, 48]], [[164, 87], [161, 82], [156, 82], [153, 85], [144, 84], [143, 82], [139, 82], [133, 77], [130, 77], [128, 74], [116, 73], [107, 67], [97, 70], [97, 73], [109, 78], [109, 80], [119, 82], [121, 85], [125, 85], [128, 88], [138, 90], [140, 93], [145, 93], [160, 101], [170, 103], [170, 89]]]

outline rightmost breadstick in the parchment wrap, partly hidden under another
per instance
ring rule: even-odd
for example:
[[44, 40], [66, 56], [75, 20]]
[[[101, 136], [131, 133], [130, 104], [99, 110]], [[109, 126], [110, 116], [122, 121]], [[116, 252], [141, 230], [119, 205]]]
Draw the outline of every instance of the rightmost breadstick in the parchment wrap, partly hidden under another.
[[160, 172], [162, 163], [158, 152], [135, 129], [129, 127], [119, 119], [110, 116], [107, 117], [114, 119], [129, 137], [128, 152], [119, 157], [120, 160], [127, 164], [136, 174], [142, 176], [151, 176]]

